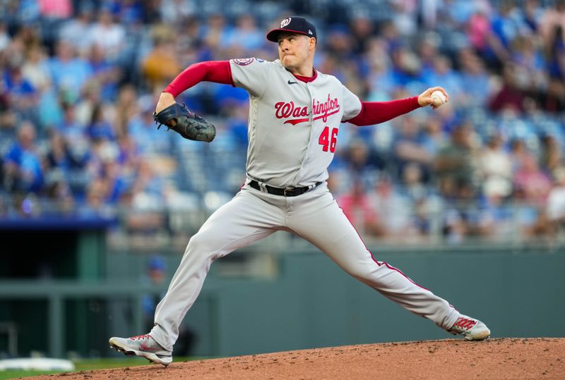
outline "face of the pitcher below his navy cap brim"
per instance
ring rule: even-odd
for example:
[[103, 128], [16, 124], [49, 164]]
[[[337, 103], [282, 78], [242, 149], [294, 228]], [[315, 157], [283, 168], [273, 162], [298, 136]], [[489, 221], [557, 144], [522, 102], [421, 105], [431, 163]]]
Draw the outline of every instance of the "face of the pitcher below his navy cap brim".
[[278, 56], [287, 69], [299, 68], [314, 54], [316, 39], [296, 33], [280, 33]]

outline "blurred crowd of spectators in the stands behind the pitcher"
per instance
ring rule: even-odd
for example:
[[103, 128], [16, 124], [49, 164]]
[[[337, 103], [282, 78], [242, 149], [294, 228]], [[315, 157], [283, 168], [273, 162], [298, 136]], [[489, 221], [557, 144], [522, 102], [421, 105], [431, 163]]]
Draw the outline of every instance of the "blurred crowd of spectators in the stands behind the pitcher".
[[125, 210], [128, 231], [186, 233], [171, 213], [212, 212], [244, 181], [248, 96], [177, 98], [217, 125], [210, 145], [157, 130], [156, 99], [191, 63], [276, 59], [266, 30], [292, 14], [318, 28], [314, 66], [361, 99], [450, 95], [340, 128], [328, 185], [364, 235], [562, 229], [565, 0], [0, 0], [0, 216]]

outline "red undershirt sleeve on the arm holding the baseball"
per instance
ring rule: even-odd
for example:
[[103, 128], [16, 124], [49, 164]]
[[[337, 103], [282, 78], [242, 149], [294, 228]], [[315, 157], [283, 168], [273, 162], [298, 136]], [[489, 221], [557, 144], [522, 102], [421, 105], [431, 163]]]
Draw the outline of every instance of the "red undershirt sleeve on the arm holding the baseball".
[[358, 126], [374, 125], [396, 118], [420, 107], [418, 97], [391, 100], [390, 102], [361, 102], [362, 108], [359, 115], [347, 123]]

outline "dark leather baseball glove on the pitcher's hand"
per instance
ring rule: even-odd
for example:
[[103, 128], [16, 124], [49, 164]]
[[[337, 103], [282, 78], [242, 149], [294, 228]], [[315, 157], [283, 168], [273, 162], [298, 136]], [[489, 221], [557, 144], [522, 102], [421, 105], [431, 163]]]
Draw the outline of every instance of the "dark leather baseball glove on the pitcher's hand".
[[165, 124], [167, 130], [172, 129], [188, 140], [210, 142], [216, 136], [215, 126], [189, 111], [184, 104], [172, 104], [159, 114], [154, 113], [153, 118], [156, 123], [159, 123], [157, 129]]

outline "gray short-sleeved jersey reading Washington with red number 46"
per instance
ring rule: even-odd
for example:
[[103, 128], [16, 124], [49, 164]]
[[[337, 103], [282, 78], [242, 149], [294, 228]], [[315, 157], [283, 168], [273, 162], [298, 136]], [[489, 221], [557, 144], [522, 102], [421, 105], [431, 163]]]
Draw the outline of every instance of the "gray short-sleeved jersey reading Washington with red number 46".
[[328, 179], [340, 122], [359, 114], [359, 98], [332, 75], [299, 80], [279, 60], [230, 66], [234, 85], [249, 92], [248, 176], [279, 188]]

